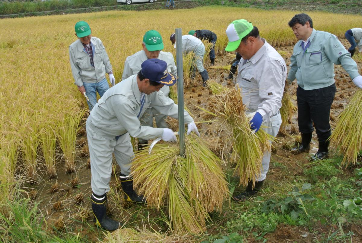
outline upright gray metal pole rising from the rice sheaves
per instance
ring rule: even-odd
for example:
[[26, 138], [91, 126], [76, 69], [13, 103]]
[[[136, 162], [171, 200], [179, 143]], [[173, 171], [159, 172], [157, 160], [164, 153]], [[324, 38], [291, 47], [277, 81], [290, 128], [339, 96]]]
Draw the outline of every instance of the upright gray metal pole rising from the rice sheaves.
[[180, 155], [185, 157], [185, 114], [184, 114], [184, 66], [182, 63], [182, 29], [175, 29], [176, 63], [177, 63], [177, 105], [178, 105], [178, 139]]

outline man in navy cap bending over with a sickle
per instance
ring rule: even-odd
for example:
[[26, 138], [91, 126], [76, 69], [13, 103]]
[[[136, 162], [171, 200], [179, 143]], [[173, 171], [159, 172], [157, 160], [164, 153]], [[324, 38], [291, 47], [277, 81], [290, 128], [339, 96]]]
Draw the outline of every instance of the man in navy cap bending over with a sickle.
[[[112, 154], [121, 167], [122, 189], [125, 200], [145, 203], [143, 196], [133, 189], [130, 162], [134, 158], [131, 138], [145, 140], [161, 137], [166, 142], [176, 142], [171, 129], [142, 126], [140, 117], [152, 105], [159, 113], [178, 118], [178, 107], [172, 99], [158, 92], [164, 86], [172, 86], [176, 78], [167, 72], [167, 63], [159, 59], [148, 59], [141, 65], [138, 74], [126, 78], [99, 99], [86, 122], [87, 138], [92, 172], [92, 210], [96, 225], [105, 230], [121, 226], [106, 216], [106, 193], [112, 173]], [[156, 91], [156, 92], [155, 92]], [[192, 131], [199, 136], [194, 120], [185, 111], [187, 134]]]

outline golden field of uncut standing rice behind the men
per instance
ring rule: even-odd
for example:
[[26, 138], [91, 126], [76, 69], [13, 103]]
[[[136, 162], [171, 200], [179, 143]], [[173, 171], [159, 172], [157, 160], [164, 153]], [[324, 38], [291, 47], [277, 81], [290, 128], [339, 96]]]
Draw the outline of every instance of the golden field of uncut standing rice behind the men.
[[[73, 84], [68, 46], [76, 40], [74, 24], [87, 21], [100, 38], [121, 81], [127, 56], [141, 50], [145, 31], [158, 30], [165, 49], [176, 27], [210, 29], [218, 35], [216, 53], [227, 44], [226, 27], [245, 18], [274, 47], [296, 42], [287, 22], [297, 12], [202, 7], [180, 10], [109, 11], [0, 20], [0, 210], [17, 182], [54, 178], [55, 162], [74, 171], [79, 124], [87, 116], [84, 97]], [[313, 27], [343, 37], [362, 16], [311, 12]]]

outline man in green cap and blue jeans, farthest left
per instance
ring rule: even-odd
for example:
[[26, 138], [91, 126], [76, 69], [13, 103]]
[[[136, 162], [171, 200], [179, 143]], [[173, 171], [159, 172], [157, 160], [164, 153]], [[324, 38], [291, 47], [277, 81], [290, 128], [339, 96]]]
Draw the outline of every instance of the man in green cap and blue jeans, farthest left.
[[74, 28], [78, 39], [69, 46], [74, 83], [80, 93], [87, 94], [89, 110], [92, 110], [97, 103], [97, 92], [102, 97], [109, 89], [106, 73], [110, 83], [115, 85], [112, 65], [102, 41], [91, 36], [87, 22], [79, 21]]

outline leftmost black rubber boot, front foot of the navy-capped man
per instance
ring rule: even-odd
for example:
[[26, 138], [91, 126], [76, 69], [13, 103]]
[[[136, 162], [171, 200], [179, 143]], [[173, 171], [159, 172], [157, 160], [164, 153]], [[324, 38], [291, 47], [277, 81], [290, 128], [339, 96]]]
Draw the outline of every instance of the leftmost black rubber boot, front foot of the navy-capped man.
[[122, 223], [114, 221], [107, 216], [107, 195], [104, 193], [98, 196], [92, 193], [92, 211], [94, 215], [94, 224], [105, 230], [113, 231], [122, 227]]

